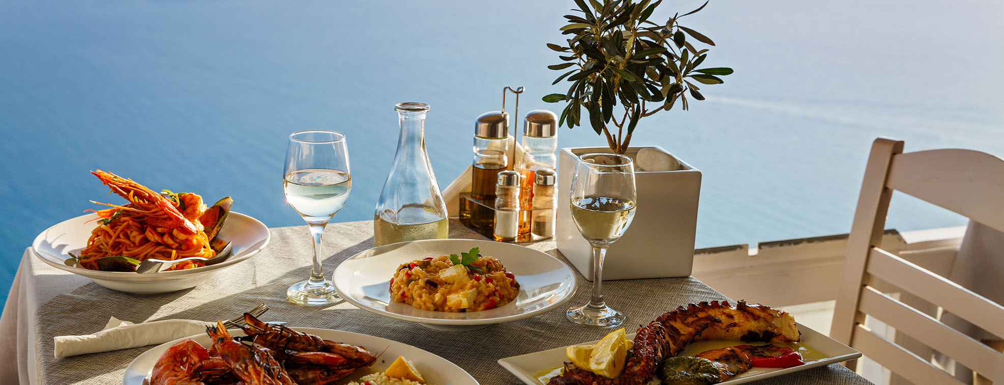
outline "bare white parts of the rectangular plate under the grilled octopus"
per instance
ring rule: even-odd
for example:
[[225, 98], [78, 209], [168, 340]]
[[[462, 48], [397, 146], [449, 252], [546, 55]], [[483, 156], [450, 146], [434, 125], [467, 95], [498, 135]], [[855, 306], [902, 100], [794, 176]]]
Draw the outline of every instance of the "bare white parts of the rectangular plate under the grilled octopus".
[[[736, 385], [745, 384], [751, 381], [762, 380], [765, 378], [780, 376], [787, 373], [797, 372], [800, 370], [811, 369], [819, 366], [829, 365], [837, 362], [843, 362], [847, 360], [852, 360], [861, 356], [861, 353], [851, 349], [850, 347], [843, 345], [828, 336], [819, 334], [812, 329], [809, 329], [803, 325], [798, 325], [798, 331], [801, 332], [801, 341], [799, 344], [806, 346], [808, 348], [814, 349], [821, 353], [825, 358], [806, 362], [805, 365], [795, 366], [785, 369], [777, 368], [753, 368], [752, 370], [740, 374], [736, 377], [729, 379], [728, 381], [721, 382], [725, 385]], [[635, 338], [635, 335], [629, 335], [629, 338]], [[581, 345], [595, 344], [596, 341], [582, 343]], [[553, 368], [558, 368], [564, 365], [568, 361], [565, 358], [565, 348], [556, 348], [550, 350], [544, 350], [536, 353], [524, 354], [521, 356], [506, 357], [499, 360], [499, 365], [506, 368], [506, 370], [512, 372], [513, 375], [518, 377], [523, 382], [530, 385], [542, 385], [540, 381], [537, 381], [537, 377], [541, 375], [541, 371], [549, 370]], [[655, 379], [652, 384], [659, 384], [659, 380]]]

